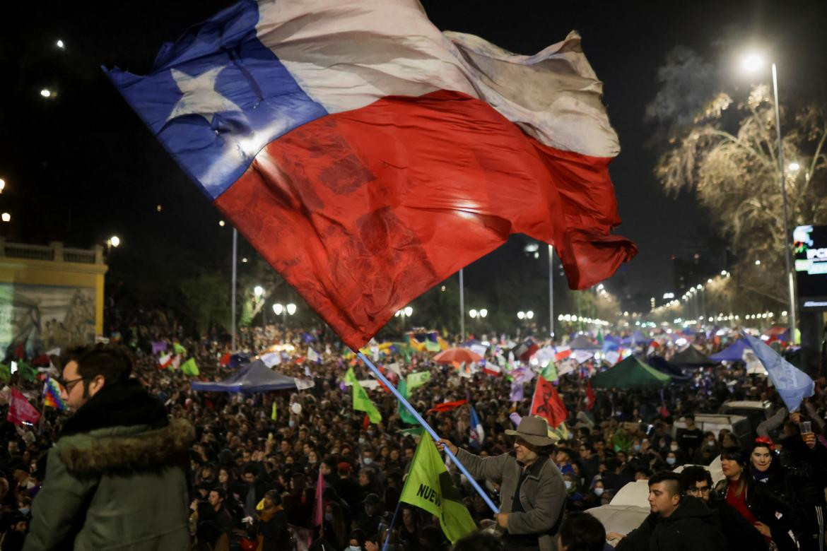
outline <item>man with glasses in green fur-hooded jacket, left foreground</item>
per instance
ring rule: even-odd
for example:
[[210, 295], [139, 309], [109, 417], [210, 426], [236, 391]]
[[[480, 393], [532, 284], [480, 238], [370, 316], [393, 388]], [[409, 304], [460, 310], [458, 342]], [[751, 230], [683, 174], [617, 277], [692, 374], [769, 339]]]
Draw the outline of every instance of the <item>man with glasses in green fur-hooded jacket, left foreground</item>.
[[63, 364], [74, 415], [50, 449], [24, 549], [188, 549], [193, 426], [129, 378], [123, 349], [74, 349]]

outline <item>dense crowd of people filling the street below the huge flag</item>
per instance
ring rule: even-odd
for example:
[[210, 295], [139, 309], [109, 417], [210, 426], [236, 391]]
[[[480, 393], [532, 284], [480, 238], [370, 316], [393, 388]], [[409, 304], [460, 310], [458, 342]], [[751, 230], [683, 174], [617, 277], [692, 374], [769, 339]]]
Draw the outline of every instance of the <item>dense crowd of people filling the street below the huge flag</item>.
[[[102, 358], [94, 359], [94, 349], [85, 349], [55, 359], [73, 406], [68, 414], [42, 407], [42, 382], [12, 378], [10, 386], [30, 391], [32, 403], [44, 416], [38, 425], [5, 423], [2, 428], [0, 549], [60, 549], [66, 544], [60, 539], [69, 537], [79, 538], [74, 539], [75, 549], [91, 549], [102, 532], [117, 534], [125, 544], [168, 538], [161, 547], [147, 549], [181, 549], [175, 547], [179, 541], [191, 542], [191, 549], [373, 551], [385, 542], [396, 551], [450, 548], [433, 515], [399, 502], [420, 437], [412, 430], [416, 426], [404, 423], [398, 401], [382, 387], [370, 392], [382, 416], [380, 423], [368, 422], [364, 412], [352, 408], [351, 389], [344, 383], [347, 368], [361, 380], [369, 379], [370, 373], [332, 334], [278, 325], [240, 332], [237, 348], [251, 354], [272, 344], [292, 344], [291, 358], [278, 370], [290, 377], [312, 378], [313, 387], [251, 395], [196, 392], [190, 387], [194, 377], [160, 369], [153, 342], [183, 346], [196, 359], [204, 380], [226, 378], [237, 365], [220, 361], [227, 357], [227, 343], [214, 335], [187, 339], [170, 319], [145, 316], [120, 331], [120, 346], [104, 346]], [[701, 337], [696, 345], [707, 353], [719, 346]], [[308, 346], [320, 354], [318, 361], [308, 361]], [[95, 362], [128, 368], [95, 367]], [[506, 431], [515, 428], [514, 413], [530, 416], [536, 375], [524, 382], [525, 398], [511, 401], [513, 382], [507, 373], [463, 373], [451, 364], [433, 362], [428, 352], [403, 358], [390, 351], [379, 363], [398, 363], [403, 377], [431, 373], [428, 382], [411, 392], [410, 402], [452, 446], [478, 458], [519, 448], [521, 440], [515, 444]], [[605, 367], [590, 361], [559, 378], [567, 434], [537, 449], [563, 482], [564, 515], [552, 523], [559, 536], [552, 545], [571, 551], [603, 549], [608, 538], [618, 549], [700, 549], [713, 542], [715, 549], [775, 546], [824, 551], [823, 381], [816, 395], [793, 413], [783, 408], [765, 377], [746, 373], [739, 363], [695, 369], [686, 382], [660, 392], [601, 389], [590, 401], [588, 375]], [[387, 374], [392, 382], [397, 380], [395, 373]], [[99, 392], [116, 383], [119, 392]], [[694, 414], [744, 399], [770, 401], [778, 411], [758, 427], [753, 435], [758, 440], [750, 436], [745, 441], [727, 430], [705, 432], [695, 425]], [[438, 404], [462, 400], [468, 405], [432, 411]], [[471, 427], [470, 405], [485, 430], [481, 441]], [[115, 420], [96, 416], [101, 407], [117, 411]], [[675, 429], [678, 420], [681, 428]], [[117, 430], [113, 432], [112, 426]], [[94, 440], [103, 444], [91, 446], [89, 434], [103, 439]], [[125, 449], [107, 448], [116, 437]], [[717, 487], [705, 468], [672, 473], [687, 463], [708, 466], [718, 457], [724, 480]], [[178, 465], [185, 476], [160, 473], [162, 465], [170, 464]], [[96, 469], [114, 474], [104, 483], [90, 475]], [[135, 477], [136, 472], [147, 477], [138, 495], [119, 486], [119, 477]], [[455, 466], [450, 473], [480, 528], [475, 537], [495, 534], [498, 518]], [[59, 482], [43, 485], [46, 477]], [[97, 486], [61, 485], [77, 477]], [[636, 480], [648, 480], [652, 514], [635, 530], [605, 534], [599, 522], [595, 527], [593, 516], [581, 513], [608, 504]], [[481, 487], [494, 501], [502, 497], [501, 483], [480, 476]], [[141, 508], [146, 496], [164, 492], [181, 492], [185, 499], [175, 511]], [[135, 518], [128, 525], [114, 525], [112, 508], [133, 511]], [[86, 525], [77, 515], [86, 515]], [[595, 542], [595, 534], [600, 534], [600, 541]], [[473, 549], [509, 544], [496, 538], [475, 541]], [[86, 547], [77, 547], [78, 542]], [[750, 543], [745, 547], [743, 542]], [[519, 544], [509, 549], [523, 549]], [[458, 542], [455, 549], [471, 549], [462, 545]]]

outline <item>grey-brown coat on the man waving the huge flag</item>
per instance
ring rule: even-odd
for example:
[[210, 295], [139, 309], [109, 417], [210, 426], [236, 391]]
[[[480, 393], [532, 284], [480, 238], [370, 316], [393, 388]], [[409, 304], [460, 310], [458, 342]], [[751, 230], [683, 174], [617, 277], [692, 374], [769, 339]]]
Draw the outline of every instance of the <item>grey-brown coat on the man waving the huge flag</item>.
[[[511, 512], [522, 472], [514, 452], [480, 458], [459, 449], [457, 459], [474, 477], [500, 484], [500, 512], [510, 513], [509, 534], [538, 534], [540, 551], [554, 549], [552, 534], [559, 525], [566, 502], [566, 484], [553, 461], [538, 459], [543, 463], [533, 463], [529, 467], [528, 477], [519, 491], [519, 501], [525, 512]], [[499, 525], [497, 530], [502, 531]]]

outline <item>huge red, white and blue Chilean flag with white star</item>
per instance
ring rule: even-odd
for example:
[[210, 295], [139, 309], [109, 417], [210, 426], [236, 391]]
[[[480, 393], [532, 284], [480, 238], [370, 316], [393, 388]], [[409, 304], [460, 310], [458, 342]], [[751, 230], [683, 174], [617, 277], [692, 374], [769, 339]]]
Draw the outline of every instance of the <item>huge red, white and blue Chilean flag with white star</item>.
[[417, 0], [239, 2], [109, 78], [342, 339], [523, 233], [571, 287], [636, 252], [619, 152], [580, 36], [514, 55], [438, 31]]

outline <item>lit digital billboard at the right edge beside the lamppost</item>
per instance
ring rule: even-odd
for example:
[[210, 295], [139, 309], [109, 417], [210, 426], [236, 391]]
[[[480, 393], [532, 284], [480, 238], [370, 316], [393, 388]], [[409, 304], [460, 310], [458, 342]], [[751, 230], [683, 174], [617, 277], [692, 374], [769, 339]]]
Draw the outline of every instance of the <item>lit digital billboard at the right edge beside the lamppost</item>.
[[792, 239], [798, 303], [802, 310], [827, 310], [827, 226], [798, 226]]

